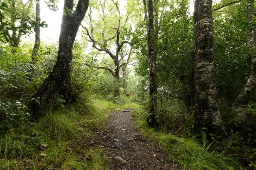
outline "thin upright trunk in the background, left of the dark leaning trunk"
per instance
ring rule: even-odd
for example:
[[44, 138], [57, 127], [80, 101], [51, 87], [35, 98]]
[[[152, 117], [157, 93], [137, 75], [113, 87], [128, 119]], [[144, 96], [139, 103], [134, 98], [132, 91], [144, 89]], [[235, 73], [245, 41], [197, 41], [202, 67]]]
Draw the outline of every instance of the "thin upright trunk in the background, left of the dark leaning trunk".
[[36, 0], [36, 22], [38, 24], [37, 29], [35, 31], [35, 44], [34, 48], [32, 50], [32, 60], [35, 60], [37, 58], [37, 53], [40, 48], [40, 22], [41, 22], [41, 17], [40, 17], [40, 0]]

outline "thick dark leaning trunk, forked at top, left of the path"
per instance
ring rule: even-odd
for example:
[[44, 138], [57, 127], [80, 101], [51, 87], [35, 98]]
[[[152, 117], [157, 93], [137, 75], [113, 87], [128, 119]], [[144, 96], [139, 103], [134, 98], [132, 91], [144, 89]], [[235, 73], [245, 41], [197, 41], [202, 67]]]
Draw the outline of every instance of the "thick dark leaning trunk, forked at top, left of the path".
[[[89, 0], [79, 0], [76, 10], [70, 11], [70, 9], [73, 10], [73, 0], [64, 1], [57, 62], [52, 73], [45, 79], [34, 95], [34, 98], [39, 98], [39, 102], [33, 100], [29, 107], [30, 111], [34, 113], [34, 116], [43, 114], [44, 110], [52, 105], [58, 91], [61, 90], [63, 84], [70, 77], [73, 43], [76, 39], [78, 28], [84, 19], [88, 5]], [[35, 115], [35, 113], [37, 114]]]

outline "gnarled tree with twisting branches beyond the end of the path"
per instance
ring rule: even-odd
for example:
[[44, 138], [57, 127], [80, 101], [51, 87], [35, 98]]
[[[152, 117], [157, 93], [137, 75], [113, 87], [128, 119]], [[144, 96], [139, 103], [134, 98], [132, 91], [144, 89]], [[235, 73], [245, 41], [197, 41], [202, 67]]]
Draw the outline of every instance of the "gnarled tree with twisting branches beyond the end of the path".
[[[120, 69], [127, 65], [132, 53], [132, 43], [128, 40], [124, 40], [124, 36], [122, 36], [121, 31], [123, 31], [124, 29], [127, 29], [125, 26], [129, 20], [129, 18], [131, 17], [131, 13], [128, 11], [127, 16], [125, 17], [125, 20], [122, 18], [121, 12], [119, 10], [119, 4], [118, 2], [114, 2], [113, 0], [111, 0], [113, 2], [113, 5], [116, 8], [117, 11], [117, 16], [109, 16], [111, 17], [111, 23], [113, 23], [111, 26], [108, 26], [106, 23], [106, 20], [109, 20], [110, 18], [107, 18], [107, 14], [105, 14], [105, 8], [107, 7], [106, 4], [106, 0], [104, 0], [103, 3], [100, 4], [100, 8], [101, 11], [98, 12], [102, 12], [102, 18], [100, 19], [100, 24], [103, 26], [103, 28], [98, 28], [98, 30], [95, 30], [95, 26], [98, 26], [99, 23], [93, 23], [92, 20], [92, 14], [89, 14], [89, 19], [90, 19], [90, 31], [88, 28], [84, 27], [86, 32], [85, 34], [89, 37], [89, 41], [92, 42], [92, 47], [95, 48], [98, 51], [104, 51], [106, 54], [108, 54], [109, 57], [111, 57], [111, 59], [114, 62], [114, 68], [110, 68], [110, 67], [97, 67], [98, 69], [105, 69], [108, 70], [112, 76], [116, 79], [117, 84], [119, 83], [119, 78], [120, 78]], [[111, 8], [111, 10], [113, 10], [113, 8]], [[113, 12], [113, 11], [112, 11]], [[113, 21], [113, 18], [116, 17], [117, 18], [117, 23], [115, 23]], [[115, 30], [115, 32], [113, 33], [113, 30]], [[99, 34], [99, 31], [101, 31], [100, 37], [98, 37], [97, 39], [97, 33]], [[96, 32], [96, 33], [95, 33]], [[113, 42], [113, 40], [115, 40]], [[129, 45], [127, 45], [129, 44]], [[110, 49], [111, 45], [115, 46], [115, 52], [112, 52], [112, 50]], [[129, 47], [130, 46], [130, 47]], [[113, 46], [112, 46], [113, 48]], [[130, 50], [129, 50], [130, 48]], [[126, 61], [124, 61], [124, 58], [128, 56], [128, 59]], [[115, 95], [119, 96], [120, 91], [119, 88], [116, 88], [116, 92]]]

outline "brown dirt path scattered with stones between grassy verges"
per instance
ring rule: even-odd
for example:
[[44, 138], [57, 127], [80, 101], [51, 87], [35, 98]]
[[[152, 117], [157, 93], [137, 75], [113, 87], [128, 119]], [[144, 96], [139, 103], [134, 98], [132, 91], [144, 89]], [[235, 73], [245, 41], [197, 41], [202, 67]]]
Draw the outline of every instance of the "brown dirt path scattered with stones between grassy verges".
[[133, 110], [110, 115], [108, 130], [99, 132], [112, 164], [110, 170], [179, 170], [160, 150], [151, 148], [134, 127]]

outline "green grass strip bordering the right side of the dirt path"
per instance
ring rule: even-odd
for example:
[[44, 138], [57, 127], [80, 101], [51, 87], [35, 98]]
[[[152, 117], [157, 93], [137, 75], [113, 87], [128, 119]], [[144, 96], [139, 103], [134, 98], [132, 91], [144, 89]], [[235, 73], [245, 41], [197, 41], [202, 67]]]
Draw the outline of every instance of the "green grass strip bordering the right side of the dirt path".
[[175, 164], [185, 170], [243, 170], [239, 164], [221, 153], [210, 150], [192, 139], [183, 139], [171, 133], [148, 128], [145, 114], [134, 111], [137, 127], [149, 137], [154, 147], [162, 148]]

